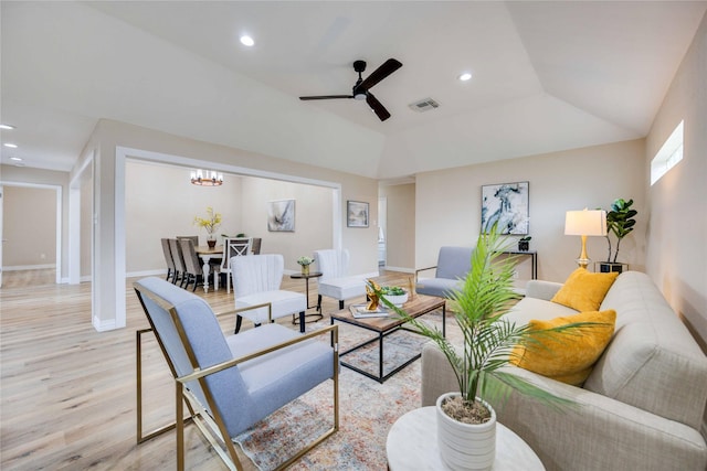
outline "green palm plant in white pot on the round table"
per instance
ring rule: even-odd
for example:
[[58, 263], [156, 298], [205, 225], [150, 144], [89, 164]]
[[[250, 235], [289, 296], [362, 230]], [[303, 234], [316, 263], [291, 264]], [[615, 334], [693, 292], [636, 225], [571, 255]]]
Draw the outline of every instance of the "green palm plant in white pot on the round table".
[[[507, 397], [511, 389], [556, 405], [569, 404], [504, 370], [518, 344], [531, 347], [544, 334], [585, 327], [578, 322], [530, 330], [505, 318], [517, 299], [513, 289], [516, 259], [503, 256], [508, 243], [494, 226], [482, 234], [472, 254], [471, 270], [458, 291], [451, 293], [452, 311], [464, 336], [455, 347], [436, 328], [408, 315], [383, 293], [381, 302], [442, 350], [458, 382], [458, 392], [437, 399], [437, 442], [444, 462], [452, 469], [490, 469], [495, 458], [496, 415], [485, 400]], [[372, 288], [374, 283], [369, 283]], [[380, 288], [380, 287], [379, 287]], [[465, 453], [467, 452], [467, 453]]]

